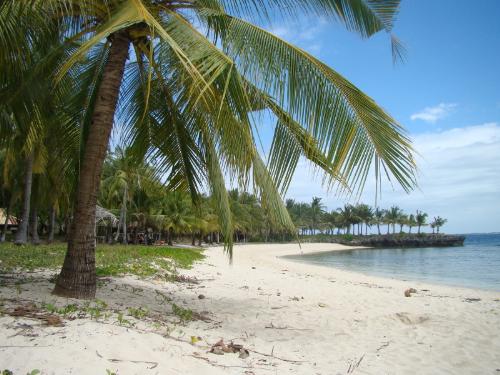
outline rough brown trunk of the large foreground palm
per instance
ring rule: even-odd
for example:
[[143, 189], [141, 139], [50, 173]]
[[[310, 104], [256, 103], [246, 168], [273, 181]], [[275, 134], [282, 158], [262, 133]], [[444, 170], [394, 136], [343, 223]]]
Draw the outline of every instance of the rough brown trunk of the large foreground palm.
[[130, 44], [125, 31], [111, 35], [110, 41], [108, 61], [97, 92], [81, 162], [68, 251], [53, 292], [60, 296], [95, 297], [94, 226], [97, 193]]

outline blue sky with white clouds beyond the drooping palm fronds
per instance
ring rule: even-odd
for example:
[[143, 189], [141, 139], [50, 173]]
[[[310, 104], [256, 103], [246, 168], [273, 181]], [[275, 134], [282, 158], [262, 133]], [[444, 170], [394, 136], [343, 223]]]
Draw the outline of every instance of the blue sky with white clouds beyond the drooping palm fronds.
[[[385, 183], [379, 205], [448, 219], [447, 233], [500, 232], [500, 1], [403, 0], [394, 34], [407, 49], [394, 65], [390, 40], [361, 39], [326, 19], [275, 22], [304, 48], [371, 96], [404, 125], [419, 169], [417, 190]], [[270, 134], [263, 134], [264, 142]], [[347, 203], [300, 163], [287, 198]], [[367, 183], [360, 201], [375, 203]], [[356, 203], [356, 201], [350, 201]]]

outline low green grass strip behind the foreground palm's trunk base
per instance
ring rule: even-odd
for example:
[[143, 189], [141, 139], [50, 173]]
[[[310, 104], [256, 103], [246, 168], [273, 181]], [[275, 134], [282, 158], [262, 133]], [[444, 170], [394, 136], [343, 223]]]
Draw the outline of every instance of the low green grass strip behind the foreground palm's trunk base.
[[[66, 244], [24, 245], [0, 244], [0, 272], [15, 270], [61, 268]], [[191, 268], [204, 258], [201, 250], [144, 245], [97, 245], [96, 272], [98, 276], [132, 274], [153, 276], [175, 272], [176, 268]]]

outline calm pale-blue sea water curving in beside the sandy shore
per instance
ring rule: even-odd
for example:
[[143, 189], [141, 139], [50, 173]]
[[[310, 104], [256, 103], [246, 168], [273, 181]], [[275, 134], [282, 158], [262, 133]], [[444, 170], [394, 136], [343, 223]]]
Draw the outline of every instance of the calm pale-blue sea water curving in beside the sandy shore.
[[286, 258], [375, 276], [500, 291], [500, 234], [468, 234], [463, 247], [353, 249]]

